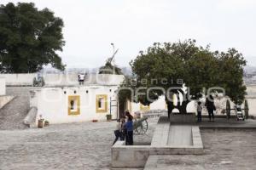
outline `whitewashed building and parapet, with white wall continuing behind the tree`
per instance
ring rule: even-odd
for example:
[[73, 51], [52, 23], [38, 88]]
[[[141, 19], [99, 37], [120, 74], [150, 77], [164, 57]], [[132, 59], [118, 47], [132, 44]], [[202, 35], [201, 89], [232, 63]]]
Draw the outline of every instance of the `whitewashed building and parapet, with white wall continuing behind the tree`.
[[[77, 82], [77, 75], [45, 75], [44, 77], [46, 87], [31, 91], [31, 107], [36, 107], [38, 110], [36, 122], [40, 116], [50, 123], [66, 123], [102, 121], [106, 120], [107, 114], [111, 114], [115, 119], [119, 118], [125, 110], [129, 110], [131, 114], [138, 111], [167, 111], [164, 96], [149, 106], [128, 100], [125, 107], [119, 109], [117, 91], [119, 84], [124, 80], [120, 75], [88, 75], [85, 77], [84, 85], [81, 86]], [[256, 86], [247, 87], [249, 115], [255, 115], [253, 113], [256, 105], [254, 89], [256, 92]], [[215, 103], [225, 108], [225, 99], [217, 99]], [[195, 108], [195, 101], [191, 101], [187, 111], [195, 112]], [[221, 110], [222, 108], [219, 109], [218, 114]], [[207, 114], [206, 109], [203, 113]]]

